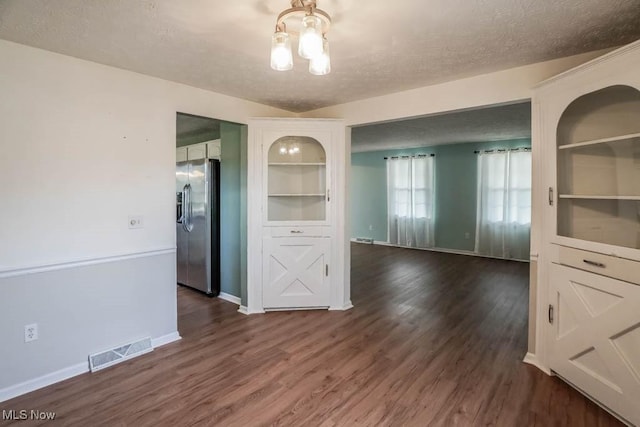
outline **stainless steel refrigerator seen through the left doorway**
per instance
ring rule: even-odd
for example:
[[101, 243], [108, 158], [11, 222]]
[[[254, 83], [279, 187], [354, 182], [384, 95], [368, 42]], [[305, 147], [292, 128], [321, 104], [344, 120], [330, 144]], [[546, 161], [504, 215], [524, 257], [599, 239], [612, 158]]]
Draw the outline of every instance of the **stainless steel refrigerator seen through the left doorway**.
[[220, 293], [220, 162], [176, 163], [178, 284]]

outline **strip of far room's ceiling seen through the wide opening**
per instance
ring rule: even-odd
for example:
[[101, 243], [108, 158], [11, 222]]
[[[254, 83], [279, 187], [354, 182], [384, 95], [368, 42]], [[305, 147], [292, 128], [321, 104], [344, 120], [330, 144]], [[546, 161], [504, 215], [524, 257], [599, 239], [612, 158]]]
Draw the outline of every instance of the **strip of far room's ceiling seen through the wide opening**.
[[353, 152], [531, 138], [531, 103], [502, 105], [355, 127]]

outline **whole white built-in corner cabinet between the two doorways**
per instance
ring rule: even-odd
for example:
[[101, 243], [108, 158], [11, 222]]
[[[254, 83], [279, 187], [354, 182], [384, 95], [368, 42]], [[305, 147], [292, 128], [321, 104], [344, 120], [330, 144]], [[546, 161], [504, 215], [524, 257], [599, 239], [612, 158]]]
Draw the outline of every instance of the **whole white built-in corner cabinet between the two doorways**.
[[249, 312], [350, 307], [347, 149], [339, 120], [249, 123]]

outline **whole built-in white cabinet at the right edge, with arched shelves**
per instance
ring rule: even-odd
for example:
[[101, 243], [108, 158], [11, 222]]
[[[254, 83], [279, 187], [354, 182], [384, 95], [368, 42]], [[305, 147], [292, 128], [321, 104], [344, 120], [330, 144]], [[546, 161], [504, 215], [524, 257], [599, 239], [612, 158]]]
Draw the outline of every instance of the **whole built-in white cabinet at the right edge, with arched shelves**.
[[[640, 44], [540, 85], [540, 363], [640, 425]], [[543, 194], [544, 193], [544, 194]]]

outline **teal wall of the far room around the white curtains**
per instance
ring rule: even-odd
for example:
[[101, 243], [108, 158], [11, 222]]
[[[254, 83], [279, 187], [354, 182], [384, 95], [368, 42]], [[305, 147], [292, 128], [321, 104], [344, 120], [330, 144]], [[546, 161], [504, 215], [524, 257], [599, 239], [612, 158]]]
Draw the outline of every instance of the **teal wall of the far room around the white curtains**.
[[384, 157], [435, 154], [436, 247], [473, 251], [477, 191], [477, 155], [474, 151], [530, 146], [530, 139], [519, 139], [353, 153], [351, 237], [387, 240], [387, 169]]

